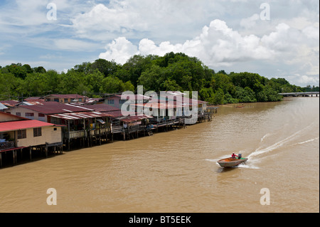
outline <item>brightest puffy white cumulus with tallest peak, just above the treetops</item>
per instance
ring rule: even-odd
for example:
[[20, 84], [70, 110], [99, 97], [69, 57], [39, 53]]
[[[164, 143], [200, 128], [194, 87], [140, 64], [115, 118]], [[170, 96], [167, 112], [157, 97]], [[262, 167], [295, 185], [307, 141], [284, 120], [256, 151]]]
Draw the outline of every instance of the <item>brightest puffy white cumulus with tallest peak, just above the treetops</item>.
[[[122, 55], [130, 57], [130, 54], [125, 51], [131, 51], [133, 44], [125, 38], [121, 38], [121, 42], [115, 40], [108, 44], [107, 52], [100, 54], [100, 57], [110, 59], [110, 56], [119, 56], [119, 45], [123, 44]], [[117, 46], [117, 48], [112, 48]], [[138, 48], [137, 48], [138, 50]], [[254, 35], [241, 36], [238, 31], [228, 28], [225, 21], [211, 21], [210, 26], [203, 27], [200, 36], [184, 43], [171, 44], [169, 41], [164, 41], [156, 45], [154, 41], [144, 38], [139, 42], [139, 51], [142, 55], [159, 55], [164, 56], [169, 52], [183, 52], [190, 56], [200, 58], [203, 63], [212, 67], [220, 65], [230, 65], [233, 62], [243, 62], [250, 59], [270, 59], [274, 51], [270, 51], [265, 46], [260, 44], [260, 38]], [[121, 59], [113, 58], [117, 62], [124, 62], [124, 57]]]

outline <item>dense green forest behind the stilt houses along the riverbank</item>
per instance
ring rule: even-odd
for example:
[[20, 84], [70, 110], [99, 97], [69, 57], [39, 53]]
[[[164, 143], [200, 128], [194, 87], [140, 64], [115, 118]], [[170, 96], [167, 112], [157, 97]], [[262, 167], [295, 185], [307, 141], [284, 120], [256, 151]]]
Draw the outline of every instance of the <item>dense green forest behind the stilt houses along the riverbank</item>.
[[0, 66], [0, 100], [71, 93], [103, 97], [134, 91], [137, 85], [143, 85], [144, 92], [197, 90], [199, 99], [213, 105], [279, 101], [278, 93], [319, 91], [319, 87], [300, 88], [284, 78], [268, 79], [257, 73], [215, 72], [198, 58], [172, 52], [163, 57], [132, 56], [124, 65], [97, 59], [75, 65], [67, 73], [21, 63]]

